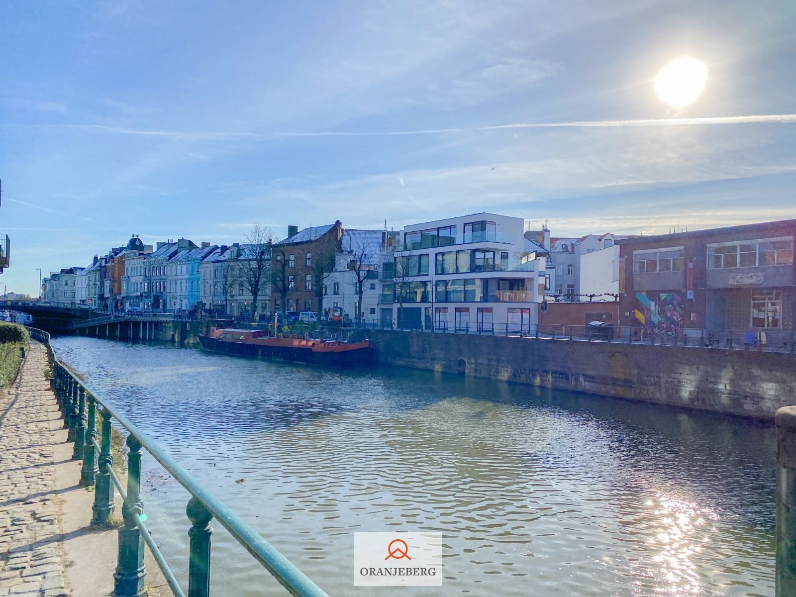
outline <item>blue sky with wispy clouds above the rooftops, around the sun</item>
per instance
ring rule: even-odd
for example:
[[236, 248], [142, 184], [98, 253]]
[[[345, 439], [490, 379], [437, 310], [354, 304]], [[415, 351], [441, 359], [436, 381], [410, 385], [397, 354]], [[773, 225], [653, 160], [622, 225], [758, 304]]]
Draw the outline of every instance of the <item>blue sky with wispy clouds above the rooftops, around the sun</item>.
[[[796, 2], [32, 0], [0, 24], [9, 292], [133, 233], [796, 217]], [[653, 79], [684, 55], [708, 81], [674, 109]]]

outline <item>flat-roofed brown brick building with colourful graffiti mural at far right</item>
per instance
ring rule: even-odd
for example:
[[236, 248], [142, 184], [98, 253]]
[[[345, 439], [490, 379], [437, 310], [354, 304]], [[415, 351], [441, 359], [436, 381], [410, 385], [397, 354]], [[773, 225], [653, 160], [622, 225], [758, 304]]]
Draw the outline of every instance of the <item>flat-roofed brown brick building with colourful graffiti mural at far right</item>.
[[779, 220], [616, 240], [620, 323], [790, 333], [794, 234], [796, 220]]

